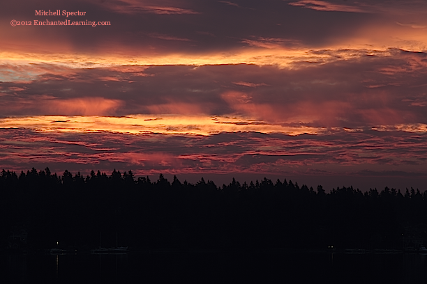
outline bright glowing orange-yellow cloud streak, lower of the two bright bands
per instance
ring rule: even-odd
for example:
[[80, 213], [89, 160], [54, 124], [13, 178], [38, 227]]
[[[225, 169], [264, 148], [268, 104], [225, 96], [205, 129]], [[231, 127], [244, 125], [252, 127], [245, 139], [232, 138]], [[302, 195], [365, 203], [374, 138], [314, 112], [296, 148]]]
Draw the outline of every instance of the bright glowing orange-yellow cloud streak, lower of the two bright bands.
[[322, 127], [274, 125], [244, 117], [149, 115], [105, 116], [27, 116], [0, 119], [1, 128], [27, 128], [40, 132], [117, 132], [130, 134], [163, 133], [209, 136], [220, 132], [261, 132], [299, 135], [321, 134]]

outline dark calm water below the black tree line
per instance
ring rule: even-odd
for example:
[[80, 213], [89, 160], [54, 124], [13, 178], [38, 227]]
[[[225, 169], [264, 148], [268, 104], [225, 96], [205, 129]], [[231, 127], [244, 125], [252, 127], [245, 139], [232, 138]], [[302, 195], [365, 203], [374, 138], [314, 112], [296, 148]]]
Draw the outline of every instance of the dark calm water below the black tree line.
[[0, 255], [0, 283], [424, 283], [417, 254]]

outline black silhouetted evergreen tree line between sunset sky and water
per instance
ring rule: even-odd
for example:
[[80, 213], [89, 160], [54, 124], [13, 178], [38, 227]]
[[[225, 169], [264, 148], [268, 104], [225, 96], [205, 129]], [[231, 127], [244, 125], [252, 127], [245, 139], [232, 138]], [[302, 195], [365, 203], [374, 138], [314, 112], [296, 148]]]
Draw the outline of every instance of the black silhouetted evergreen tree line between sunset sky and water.
[[22, 226], [31, 249], [403, 248], [427, 236], [427, 191], [325, 191], [267, 178], [218, 187], [132, 171], [84, 177], [49, 168], [0, 173], [0, 237]]

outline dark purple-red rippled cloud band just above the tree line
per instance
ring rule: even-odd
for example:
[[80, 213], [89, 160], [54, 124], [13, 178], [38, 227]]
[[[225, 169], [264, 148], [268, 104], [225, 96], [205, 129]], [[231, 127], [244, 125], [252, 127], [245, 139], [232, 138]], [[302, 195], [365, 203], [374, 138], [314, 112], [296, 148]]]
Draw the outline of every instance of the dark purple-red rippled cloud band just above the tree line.
[[88, 174], [92, 169], [120, 168], [139, 175], [261, 173], [389, 178], [425, 175], [427, 162], [426, 134], [385, 135], [377, 131], [186, 136], [40, 132], [21, 127], [0, 128], [0, 148], [0, 168], [20, 171], [48, 165], [52, 171], [67, 168]]

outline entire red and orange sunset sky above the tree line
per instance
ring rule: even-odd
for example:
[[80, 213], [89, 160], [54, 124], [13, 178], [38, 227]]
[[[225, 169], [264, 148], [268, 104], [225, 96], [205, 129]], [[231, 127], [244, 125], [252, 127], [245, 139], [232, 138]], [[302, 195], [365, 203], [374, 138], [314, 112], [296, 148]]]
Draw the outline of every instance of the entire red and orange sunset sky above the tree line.
[[427, 189], [424, 0], [1, 7], [0, 168]]

